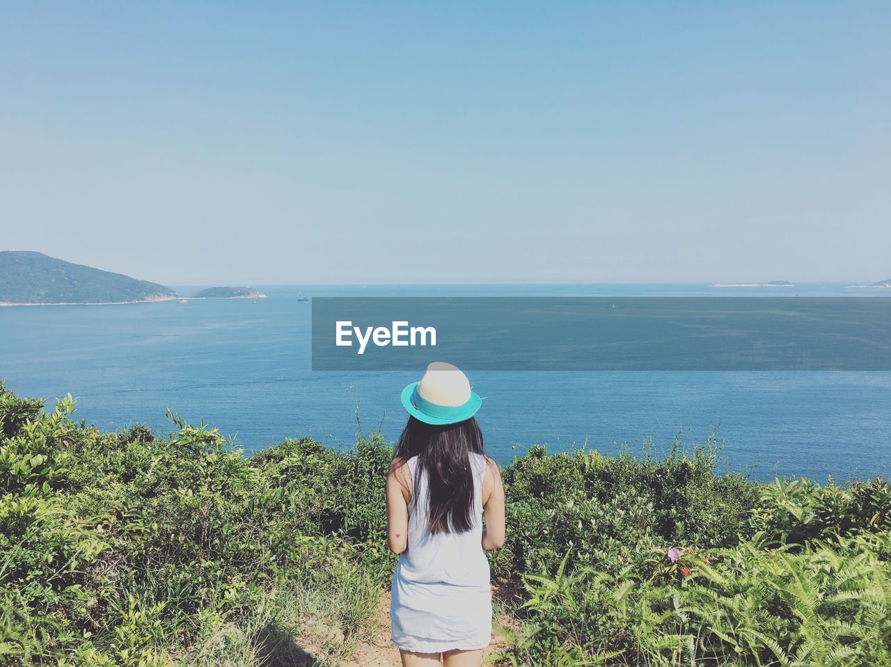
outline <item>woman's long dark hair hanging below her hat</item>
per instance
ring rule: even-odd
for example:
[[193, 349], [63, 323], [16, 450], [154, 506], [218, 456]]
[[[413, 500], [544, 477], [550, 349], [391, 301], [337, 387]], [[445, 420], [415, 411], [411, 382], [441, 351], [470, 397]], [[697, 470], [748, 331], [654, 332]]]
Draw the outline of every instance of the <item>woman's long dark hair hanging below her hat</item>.
[[[473, 472], [470, 452], [483, 453], [483, 434], [474, 418], [457, 424], [433, 426], [408, 418], [396, 459], [418, 457], [413, 488], [418, 488], [421, 471], [427, 473], [427, 516], [430, 533], [464, 533], [472, 525]], [[412, 493], [416, 506], [417, 494]]]

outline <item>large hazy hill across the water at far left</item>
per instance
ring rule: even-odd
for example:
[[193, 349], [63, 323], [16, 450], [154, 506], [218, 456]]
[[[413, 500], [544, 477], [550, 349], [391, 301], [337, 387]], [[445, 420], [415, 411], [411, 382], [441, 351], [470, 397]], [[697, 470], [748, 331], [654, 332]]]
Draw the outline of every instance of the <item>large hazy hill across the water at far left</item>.
[[111, 304], [176, 297], [173, 289], [27, 250], [0, 251], [0, 303]]

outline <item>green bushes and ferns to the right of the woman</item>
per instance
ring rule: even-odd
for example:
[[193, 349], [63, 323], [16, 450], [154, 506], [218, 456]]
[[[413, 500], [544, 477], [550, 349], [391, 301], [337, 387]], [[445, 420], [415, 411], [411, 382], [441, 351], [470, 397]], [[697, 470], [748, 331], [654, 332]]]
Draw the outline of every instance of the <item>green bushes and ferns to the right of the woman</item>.
[[532, 448], [505, 471], [513, 663], [891, 663], [887, 483], [757, 484], [716, 475], [713, 445]]

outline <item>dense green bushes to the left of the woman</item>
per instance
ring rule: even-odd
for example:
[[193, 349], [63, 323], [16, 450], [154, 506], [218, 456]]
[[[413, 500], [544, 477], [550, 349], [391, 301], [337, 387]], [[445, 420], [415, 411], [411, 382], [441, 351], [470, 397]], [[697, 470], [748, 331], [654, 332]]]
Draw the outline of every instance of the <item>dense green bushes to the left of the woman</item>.
[[75, 424], [70, 398], [47, 413], [0, 385], [0, 405], [0, 664], [188, 663], [272, 590], [348, 591], [334, 622], [345, 637], [368, 622], [380, 439], [348, 455], [286, 441], [251, 459], [176, 415], [159, 440]]

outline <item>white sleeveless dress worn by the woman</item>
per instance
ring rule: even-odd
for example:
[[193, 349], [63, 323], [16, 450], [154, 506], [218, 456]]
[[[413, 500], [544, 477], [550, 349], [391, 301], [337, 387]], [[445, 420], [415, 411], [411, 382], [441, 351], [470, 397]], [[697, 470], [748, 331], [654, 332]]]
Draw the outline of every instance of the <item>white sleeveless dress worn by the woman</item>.
[[482, 545], [486, 457], [470, 454], [474, 499], [466, 533], [429, 533], [427, 476], [415, 479], [417, 464], [417, 457], [408, 460], [418, 503], [409, 506], [408, 549], [399, 557], [390, 588], [391, 639], [416, 653], [485, 648], [492, 639], [489, 561]]

